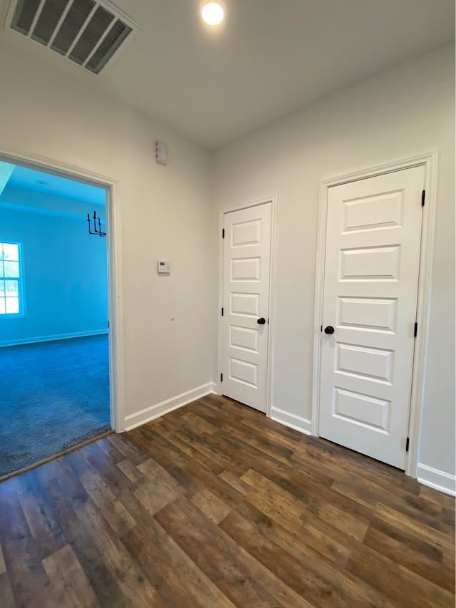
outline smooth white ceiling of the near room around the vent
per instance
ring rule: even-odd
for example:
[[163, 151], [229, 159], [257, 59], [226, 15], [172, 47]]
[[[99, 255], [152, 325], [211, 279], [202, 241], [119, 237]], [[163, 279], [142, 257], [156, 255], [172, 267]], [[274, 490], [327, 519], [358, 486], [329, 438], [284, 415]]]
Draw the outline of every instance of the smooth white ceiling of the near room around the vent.
[[115, 4], [140, 32], [84, 76], [212, 149], [454, 40], [454, 0], [225, 0], [218, 31], [199, 0]]

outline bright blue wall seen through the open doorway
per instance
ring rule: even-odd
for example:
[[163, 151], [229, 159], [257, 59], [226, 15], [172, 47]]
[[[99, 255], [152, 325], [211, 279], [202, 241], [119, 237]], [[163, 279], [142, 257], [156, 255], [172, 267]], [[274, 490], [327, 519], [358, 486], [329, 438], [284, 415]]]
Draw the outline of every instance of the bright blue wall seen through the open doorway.
[[84, 217], [93, 207], [6, 187], [0, 241], [21, 243], [25, 316], [0, 316], [0, 346], [108, 330], [106, 238], [88, 235]]

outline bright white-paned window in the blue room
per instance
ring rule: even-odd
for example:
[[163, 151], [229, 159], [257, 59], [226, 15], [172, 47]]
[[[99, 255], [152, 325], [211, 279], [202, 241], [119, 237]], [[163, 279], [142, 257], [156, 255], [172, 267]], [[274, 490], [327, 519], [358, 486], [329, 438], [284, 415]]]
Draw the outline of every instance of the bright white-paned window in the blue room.
[[0, 316], [24, 314], [22, 302], [21, 247], [0, 243]]

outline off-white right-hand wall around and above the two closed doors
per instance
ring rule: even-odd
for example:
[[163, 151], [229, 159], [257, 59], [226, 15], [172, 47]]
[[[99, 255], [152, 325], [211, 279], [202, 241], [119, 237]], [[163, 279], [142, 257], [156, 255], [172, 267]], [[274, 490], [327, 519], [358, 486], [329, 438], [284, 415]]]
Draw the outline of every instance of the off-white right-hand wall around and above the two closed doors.
[[278, 195], [272, 405], [310, 420], [319, 182], [439, 151], [431, 336], [418, 460], [451, 475], [455, 473], [454, 74], [453, 48], [421, 56], [224, 148], [217, 153], [214, 172], [221, 210]]

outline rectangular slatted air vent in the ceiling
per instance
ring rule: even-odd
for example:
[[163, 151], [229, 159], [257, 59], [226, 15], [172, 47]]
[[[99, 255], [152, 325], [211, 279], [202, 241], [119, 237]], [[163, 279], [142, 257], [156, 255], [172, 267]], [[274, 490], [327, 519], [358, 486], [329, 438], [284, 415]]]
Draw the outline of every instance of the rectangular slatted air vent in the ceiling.
[[11, 28], [94, 74], [138, 31], [115, 6], [94, 0], [15, 0]]

